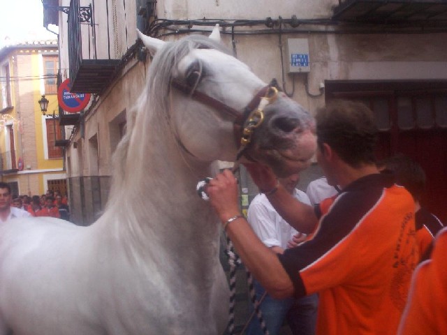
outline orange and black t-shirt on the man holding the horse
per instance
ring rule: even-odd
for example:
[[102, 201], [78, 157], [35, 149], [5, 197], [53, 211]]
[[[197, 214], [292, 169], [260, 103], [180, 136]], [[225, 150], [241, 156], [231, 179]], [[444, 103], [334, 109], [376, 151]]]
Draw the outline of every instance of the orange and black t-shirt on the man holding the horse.
[[319, 292], [317, 334], [395, 335], [419, 258], [411, 195], [370, 174], [326, 210], [311, 240], [278, 256], [295, 296]]

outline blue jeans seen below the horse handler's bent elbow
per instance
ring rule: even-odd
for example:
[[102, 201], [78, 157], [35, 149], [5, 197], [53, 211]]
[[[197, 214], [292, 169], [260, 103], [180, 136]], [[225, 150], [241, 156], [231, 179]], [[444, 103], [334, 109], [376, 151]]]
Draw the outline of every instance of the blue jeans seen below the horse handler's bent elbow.
[[[256, 299], [259, 301], [265, 290], [258, 281], [254, 280]], [[261, 302], [263, 319], [270, 335], [277, 335], [279, 329], [287, 318], [293, 335], [314, 335], [316, 323], [316, 309], [318, 307], [318, 295], [310, 295], [300, 299], [274, 299], [265, 295]], [[250, 314], [254, 311], [250, 304]], [[247, 327], [247, 335], [263, 335], [261, 324], [255, 314]]]

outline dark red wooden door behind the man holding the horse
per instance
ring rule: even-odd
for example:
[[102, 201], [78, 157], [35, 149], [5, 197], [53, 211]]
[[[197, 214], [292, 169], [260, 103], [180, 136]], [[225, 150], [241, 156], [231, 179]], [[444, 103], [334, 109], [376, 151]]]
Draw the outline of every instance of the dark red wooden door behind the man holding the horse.
[[327, 82], [326, 100], [362, 101], [380, 128], [376, 157], [397, 153], [425, 170], [422, 204], [447, 224], [447, 82]]

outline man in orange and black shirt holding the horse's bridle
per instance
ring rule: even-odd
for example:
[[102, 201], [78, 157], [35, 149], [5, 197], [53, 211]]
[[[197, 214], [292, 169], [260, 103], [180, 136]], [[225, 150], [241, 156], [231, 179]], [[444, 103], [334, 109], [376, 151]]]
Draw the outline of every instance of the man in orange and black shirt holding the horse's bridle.
[[317, 334], [395, 334], [419, 257], [413, 200], [377, 170], [376, 126], [365, 105], [342, 101], [318, 110], [316, 133], [318, 163], [328, 183], [342, 188], [316, 211], [277, 186], [269, 168], [247, 165], [278, 213], [300, 232], [313, 233], [309, 241], [283, 255], [265, 248], [244, 218], [234, 219], [237, 182], [227, 170], [210, 181], [210, 202], [272, 297], [319, 292]]

